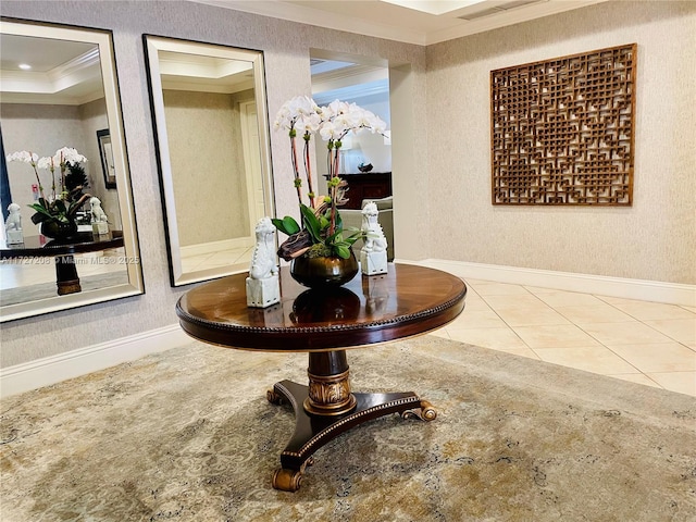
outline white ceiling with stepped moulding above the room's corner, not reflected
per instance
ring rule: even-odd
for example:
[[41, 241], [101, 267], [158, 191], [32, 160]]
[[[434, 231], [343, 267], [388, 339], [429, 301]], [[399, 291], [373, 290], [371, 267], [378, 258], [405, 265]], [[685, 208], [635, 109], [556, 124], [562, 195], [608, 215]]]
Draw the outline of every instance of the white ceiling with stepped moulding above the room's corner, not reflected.
[[189, 1], [427, 46], [607, 0]]

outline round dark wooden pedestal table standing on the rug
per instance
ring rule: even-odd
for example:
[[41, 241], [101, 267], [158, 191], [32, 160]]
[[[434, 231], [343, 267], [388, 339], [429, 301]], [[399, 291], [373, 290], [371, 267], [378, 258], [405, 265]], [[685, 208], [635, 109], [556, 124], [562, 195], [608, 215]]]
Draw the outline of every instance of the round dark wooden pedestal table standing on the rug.
[[176, 304], [184, 331], [227, 348], [309, 352], [309, 385], [281, 381], [271, 402], [293, 406], [295, 433], [281, 453], [273, 487], [300, 487], [311, 456], [341, 433], [378, 417], [400, 413], [432, 421], [433, 406], [412, 391], [360, 394], [350, 389], [347, 348], [368, 347], [438, 328], [464, 308], [467, 286], [446, 272], [389, 264], [388, 273], [361, 276], [332, 290], [308, 289], [281, 269], [281, 302], [249, 308], [247, 274], [207, 283]]

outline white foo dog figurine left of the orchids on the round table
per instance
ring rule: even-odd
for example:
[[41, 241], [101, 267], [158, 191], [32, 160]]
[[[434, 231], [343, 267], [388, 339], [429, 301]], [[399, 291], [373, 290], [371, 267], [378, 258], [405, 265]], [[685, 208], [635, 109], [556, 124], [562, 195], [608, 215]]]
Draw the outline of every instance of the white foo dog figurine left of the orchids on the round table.
[[257, 223], [257, 244], [251, 256], [247, 277], [247, 306], [266, 308], [281, 302], [278, 268], [275, 264], [275, 226], [271, 217], [261, 217]]

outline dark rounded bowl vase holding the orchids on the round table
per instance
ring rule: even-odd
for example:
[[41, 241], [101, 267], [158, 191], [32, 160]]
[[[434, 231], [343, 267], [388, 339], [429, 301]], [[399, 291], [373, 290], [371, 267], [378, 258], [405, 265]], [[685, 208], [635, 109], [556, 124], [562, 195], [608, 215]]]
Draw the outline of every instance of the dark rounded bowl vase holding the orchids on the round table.
[[352, 249], [348, 259], [300, 256], [290, 263], [293, 278], [308, 288], [327, 288], [345, 285], [356, 276], [358, 270], [358, 259]]

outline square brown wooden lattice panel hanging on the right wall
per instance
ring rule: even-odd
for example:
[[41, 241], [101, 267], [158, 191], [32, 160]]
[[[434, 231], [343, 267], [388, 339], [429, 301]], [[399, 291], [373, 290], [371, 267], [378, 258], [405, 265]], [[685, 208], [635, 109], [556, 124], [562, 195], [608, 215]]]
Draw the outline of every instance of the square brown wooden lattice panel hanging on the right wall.
[[631, 204], [636, 47], [490, 72], [494, 204]]

